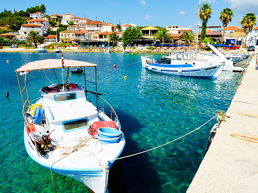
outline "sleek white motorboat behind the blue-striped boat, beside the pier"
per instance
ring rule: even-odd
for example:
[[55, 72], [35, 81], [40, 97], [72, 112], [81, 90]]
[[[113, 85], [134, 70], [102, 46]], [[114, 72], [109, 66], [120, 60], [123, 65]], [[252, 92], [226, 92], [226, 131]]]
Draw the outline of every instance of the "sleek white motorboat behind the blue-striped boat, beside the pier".
[[224, 65], [224, 71], [242, 72], [244, 69], [233, 65], [231, 59], [227, 59], [226, 56], [214, 46], [207, 44], [207, 46], [213, 51], [213, 53], [198, 51], [197, 59], [207, 59], [210, 62], [221, 62]]

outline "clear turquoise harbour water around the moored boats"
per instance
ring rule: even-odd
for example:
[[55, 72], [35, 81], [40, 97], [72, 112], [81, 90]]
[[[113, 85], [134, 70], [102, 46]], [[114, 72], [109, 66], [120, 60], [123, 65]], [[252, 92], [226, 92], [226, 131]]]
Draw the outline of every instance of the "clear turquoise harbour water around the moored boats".
[[[121, 156], [131, 155], [172, 141], [209, 120], [218, 110], [226, 112], [241, 73], [222, 72], [215, 79], [177, 77], [142, 69], [141, 54], [66, 53], [65, 59], [99, 64], [98, 92], [116, 110], [126, 137]], [[160, 54], [154, 55], [160, 58]], [[31, 61], [60, 58], [56, 53], [0, 53], [0, 192], [54, 192], [51, 173], [27, 155], [23, 142], [22, 102], [16, 70]], [[6, 63], [6, 60], [10, 60]], [[113, 68], [116, 64], [117, 68]], [[132, 64], [129, 66], [125, 66]], [[124, 67], [123, 67], [124, 66]], [[94, 68], [87, 80], [94, 81]], [[52, 70], [45, 70], [53, 83]], [[51, 72], [51, 73], [50, 73]], [[57, 70], [61, 80], [61, 70]], [[127, 76], [127, 79], [123, 77]], [[20, 76], [22, 82], [22, 76]], [[84, 86], [82, 75], [69, 80]], [[30, 99], [51, 85], [41, 70], [27, 76]], [[94, 86], [87, 84], [87, 90]], [[5, 97], [9, 92], [9, 98]], [[95, 101], [94, 95], [89, 94]], [[102, 105], [102, 103], [100, 103]], [[105, 106], [105, 109], [110, 109]], [[105, 110], [110, 114], [108, 110]], [[112, 192], [184, 193], [193, 179], [207, 146], [215, 120], [200, 130], [162, 148], [117, 161], [109, 173]], [[57, 192], [90, 192], [80, 182], [54, 173]]]

